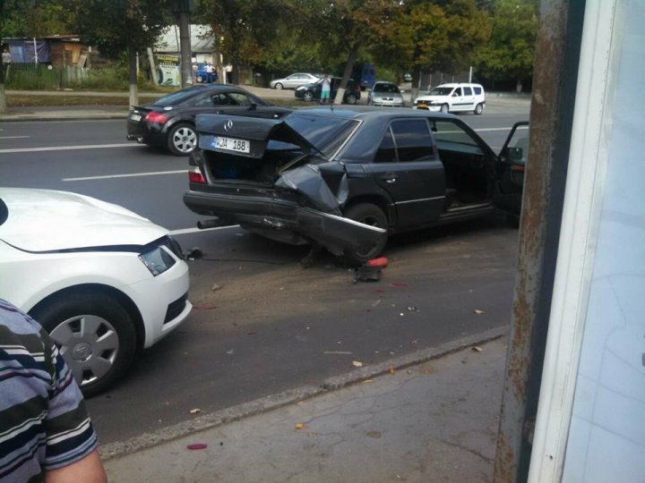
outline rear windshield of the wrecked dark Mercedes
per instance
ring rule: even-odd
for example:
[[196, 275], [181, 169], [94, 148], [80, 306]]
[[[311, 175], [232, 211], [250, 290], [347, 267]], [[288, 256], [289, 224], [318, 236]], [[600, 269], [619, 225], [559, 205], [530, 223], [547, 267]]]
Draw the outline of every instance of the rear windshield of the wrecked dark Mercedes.
[[285, 123], [325, 157], [331, 157], [358, 125], [354, 119], [315, 114], [289, 114]]

